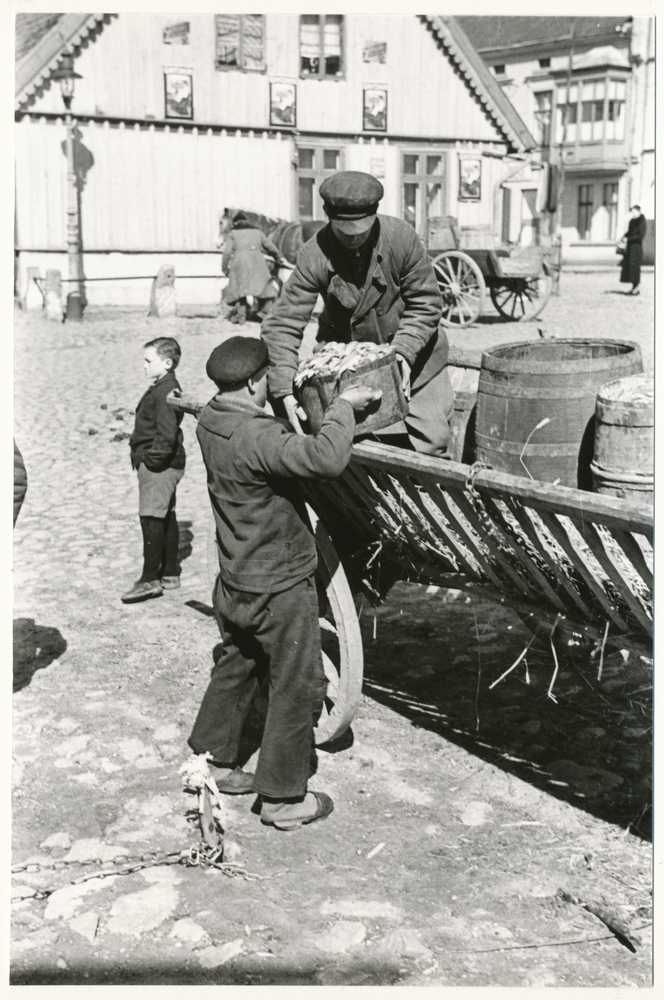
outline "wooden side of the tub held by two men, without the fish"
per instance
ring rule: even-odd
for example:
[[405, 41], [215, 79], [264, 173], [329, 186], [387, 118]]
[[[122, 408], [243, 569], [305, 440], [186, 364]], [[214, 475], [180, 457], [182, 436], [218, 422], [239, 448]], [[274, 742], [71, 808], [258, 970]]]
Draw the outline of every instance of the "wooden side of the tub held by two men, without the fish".
[[321, 429], [328, 406], [344, 389], [350, 389], [354, 385], [366, 385], [383, 392], [381, 399], [355, 414], [356, 437], [390, 427], [403, 420], [408, 413], [397, 357], [391, 351], [376, 361], [358, 365], [355, 371], [342, 372], [341, 379], [336, 375], [319, 375], [305, 382], [298, 390], [298, 397], [314, 434]]

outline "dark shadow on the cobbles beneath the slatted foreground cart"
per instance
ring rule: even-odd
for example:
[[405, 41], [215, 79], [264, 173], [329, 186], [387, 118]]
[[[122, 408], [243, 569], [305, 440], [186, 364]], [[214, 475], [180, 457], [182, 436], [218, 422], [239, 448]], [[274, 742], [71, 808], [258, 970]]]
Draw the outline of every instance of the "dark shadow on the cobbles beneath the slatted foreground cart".
[[375, 624], [366, 609], [365, 695], [413, 726], [650, 839], [652, 663], [614, 652], [598, 682], [592, 646], [570, 647], [559, 635], [556, 672], [547, 631], [492, 687], [530, 633], [504, 606], [459, 591], [460, 599], [447, 604], [444, 593], [399, 583]]

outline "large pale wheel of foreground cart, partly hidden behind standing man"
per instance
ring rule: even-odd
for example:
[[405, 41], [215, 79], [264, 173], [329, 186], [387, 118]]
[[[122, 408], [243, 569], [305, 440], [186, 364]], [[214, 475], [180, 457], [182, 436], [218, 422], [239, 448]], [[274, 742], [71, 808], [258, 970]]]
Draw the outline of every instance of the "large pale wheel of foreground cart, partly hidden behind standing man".
[[[318, 548], [319, 620], [327, 677], [325, 704], [314, 730], [316, 744], [320, 745], [341, 736], [353, 721], [362, 696], [364, 659], [360, 623], [341, 560], [308, 504], [307, 511]], [[207, 561], [210, 586], [214, 587], [219, 573], [214, 521], [208, 532]]]

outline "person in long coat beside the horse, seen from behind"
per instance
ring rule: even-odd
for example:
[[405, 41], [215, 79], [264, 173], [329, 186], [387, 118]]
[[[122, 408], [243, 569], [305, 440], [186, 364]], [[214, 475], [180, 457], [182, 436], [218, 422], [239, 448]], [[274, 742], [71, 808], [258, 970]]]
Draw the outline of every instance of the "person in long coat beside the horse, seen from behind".
[[277, 289], [265, 261], [268, 254], [275, 264], [283, 263], [279, 249], [238, 212], [233, 228], [224, 243], [223, 271], [228, 275], [224, 301], [235, 306], [230, 315], [233, 323], [244, 323], [247, 318], [248, 298], [257, 299], [257, 311], [264, 311], [276, 299]]

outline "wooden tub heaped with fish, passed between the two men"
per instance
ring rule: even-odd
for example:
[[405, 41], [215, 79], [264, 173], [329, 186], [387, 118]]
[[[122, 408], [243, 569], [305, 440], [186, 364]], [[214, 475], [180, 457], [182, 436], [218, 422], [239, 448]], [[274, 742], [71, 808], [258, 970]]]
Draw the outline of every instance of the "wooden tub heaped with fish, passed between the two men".
[[388, 344], [326, 344], [302, 362], [293, 384], [314, 434], [320, 430], [330, 404], [351, 386], [369, 386], [383, 393], [366, 410], [355, 414], [356, 437], [389, 427], [408, 413], [397, 357]]

